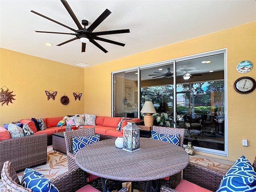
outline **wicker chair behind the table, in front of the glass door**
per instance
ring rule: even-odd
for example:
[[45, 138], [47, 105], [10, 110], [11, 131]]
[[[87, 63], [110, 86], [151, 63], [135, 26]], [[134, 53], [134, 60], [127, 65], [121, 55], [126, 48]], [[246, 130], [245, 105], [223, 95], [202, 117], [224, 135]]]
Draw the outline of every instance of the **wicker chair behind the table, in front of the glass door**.
[[[161, 126], [153, 126], [153, 131], [162, 133], [162, 134], [180, 134], [180, 143], [179, 146], [183, 148], [183, 142], [184, 142], [184, 135], [185, 135], [185, 129], [183, 128], [171, 128], [171, 127], [161, 127]], [[165, 185], [170, 188], [176, 188], [176, 186], [180, 183], [182, 178], [182, 172], [179, 172], [177, 174], [174, 174], [169, 177], [169, 179], [158, 179], [159, 186]], [[137, 190], [144, 190], [145, 184], [143, 182], [132, 182], [132, 191], [134, 189]]]

